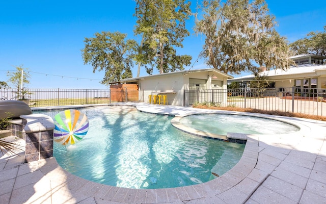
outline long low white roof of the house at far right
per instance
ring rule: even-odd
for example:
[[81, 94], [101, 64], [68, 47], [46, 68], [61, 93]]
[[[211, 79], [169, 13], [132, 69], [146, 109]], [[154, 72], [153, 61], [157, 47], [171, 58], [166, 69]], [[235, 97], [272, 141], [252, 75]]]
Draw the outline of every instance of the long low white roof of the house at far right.
[[[314, 75], [317, 70], [326, 70], [326, 65], [300, 65], [300, 66], [293, 66], [290, 67], [287, 70], [282, 69], [274, 69], [269, 71], [263, 71], [261, 72], [262, 75], [265, 75], [269, 80], [277, 80], [277, 79], [294, 79], [294, 75], [298, 76], [300, 74], [305, 75], [305, 77], [308, 77], [307, 74]], [[292, 76], [292, 77], [291, 77]], [[317, 75], [316, 75], [317, 77]], [[228, 82], [248, 82], [255, 79], [255, 75], [246, 75], [243, 77], [234, 78], [231, 80], [228, 80]]]

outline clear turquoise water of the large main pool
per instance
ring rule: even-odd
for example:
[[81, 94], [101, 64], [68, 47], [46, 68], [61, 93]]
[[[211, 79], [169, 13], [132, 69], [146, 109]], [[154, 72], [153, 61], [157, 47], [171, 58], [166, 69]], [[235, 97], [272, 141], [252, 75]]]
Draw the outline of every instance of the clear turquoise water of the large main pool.
[[[172, 188], [208, 182], [241, 158], [244, 145], [175, 129], [172, 117], [127, 106], [78, 109], [90, 127], [80, 142], [55, 143], [53, 156], [70, 173], [125, 188]], [[52, 118], [60, 111], [38, 112]]]

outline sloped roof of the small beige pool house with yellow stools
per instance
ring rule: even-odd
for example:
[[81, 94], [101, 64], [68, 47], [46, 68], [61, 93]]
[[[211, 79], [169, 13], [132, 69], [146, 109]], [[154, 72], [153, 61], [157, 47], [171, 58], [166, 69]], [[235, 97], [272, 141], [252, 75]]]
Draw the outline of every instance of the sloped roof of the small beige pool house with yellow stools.
[[224, 75], [224, 77], [226, 77], [228, 79], [233, 79], [233, 77], [231, 75], [226, 74], [226, 73], [224, 73], [222, 71], [219, 71], [219, 70], [214, 69], [214, 68], [207, 68], [207, 69], [194, 69], [194, 70], [174, 71], [174, 72], [168, 72], [168, 73], [159, 73], [159, 74], [153, 74], [153, 75], [148, 75], [148, 76], [144, 76], [144, 77], [136, 77], [136, 78], [123, 79], [120, 82], [112, 82], [110, 84], [135, 82], [135, 81], [143, 80], [143, 79], [146, 79], [146, 78], [164, 77], [164, 76], [176, 75], [176, 74], [183, 74], [183, 75], [185, 75], [185, 74], [188, 74], [188, 73], [205, 72], [205, 71], [212, 71], [212, 72], [215, 72], [216, 74]]

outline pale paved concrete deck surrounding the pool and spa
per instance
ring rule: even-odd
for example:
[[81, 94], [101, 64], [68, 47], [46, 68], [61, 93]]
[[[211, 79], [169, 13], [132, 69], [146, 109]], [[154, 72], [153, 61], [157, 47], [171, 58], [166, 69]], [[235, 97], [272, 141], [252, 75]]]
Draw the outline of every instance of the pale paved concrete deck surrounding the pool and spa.
[[[230, 113], [143, 103], [129, 105], [143, 112], [181, 117], [198, 113]], [[55, 158], [23, 163], [24, 152], [21, 152], [21, 157], [5, 155], [0, 158], [0, 204], [325, 203], [326, 122], [267, 117], [294, 123], [301, 127], [301, 131], [284, 135], [247, 135], [243, 156], [230, 171], [193, 186], [118, 188], [74, 176], [62, 169]]]

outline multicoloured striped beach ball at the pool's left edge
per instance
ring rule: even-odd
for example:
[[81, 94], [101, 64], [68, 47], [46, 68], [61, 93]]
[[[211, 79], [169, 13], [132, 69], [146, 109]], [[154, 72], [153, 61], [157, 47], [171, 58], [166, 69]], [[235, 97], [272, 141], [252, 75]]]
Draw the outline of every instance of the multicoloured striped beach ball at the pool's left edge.
[[75, 144], [82, 140], [89, 127], [89, 121], [84, 113], [78, 110], [65, 110], [55, 116], [53, 140], [62, 145]]

